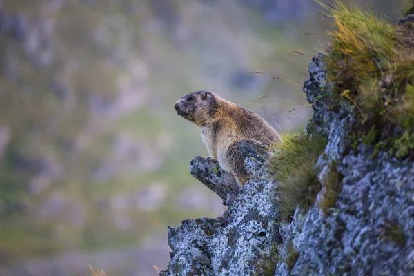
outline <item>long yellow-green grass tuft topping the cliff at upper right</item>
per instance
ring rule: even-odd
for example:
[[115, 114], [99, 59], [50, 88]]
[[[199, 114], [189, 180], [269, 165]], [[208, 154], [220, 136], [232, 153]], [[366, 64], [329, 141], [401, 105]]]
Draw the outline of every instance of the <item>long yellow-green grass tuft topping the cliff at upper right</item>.
[[380, 68], [390, 62], [395, 43], [395, 27], [371, 12], [346, 7], [341, 1], [321, 4], [333, 19], [330, 55], [326, 58], [328, 80], [339, 93], [350, 90], [354, 97], [366, 76], [380, 77]]

